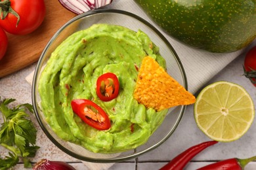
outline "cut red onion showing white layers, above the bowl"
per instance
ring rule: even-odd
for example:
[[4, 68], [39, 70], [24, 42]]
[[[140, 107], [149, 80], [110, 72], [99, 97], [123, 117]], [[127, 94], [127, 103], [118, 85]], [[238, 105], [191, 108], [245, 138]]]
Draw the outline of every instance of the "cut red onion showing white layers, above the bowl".
[[66, 9], [74, 12], [75, 14], [82, 14], [89, 10], [98, 9], [104, 7], [112, 0], [58, 0], [60, 4]]

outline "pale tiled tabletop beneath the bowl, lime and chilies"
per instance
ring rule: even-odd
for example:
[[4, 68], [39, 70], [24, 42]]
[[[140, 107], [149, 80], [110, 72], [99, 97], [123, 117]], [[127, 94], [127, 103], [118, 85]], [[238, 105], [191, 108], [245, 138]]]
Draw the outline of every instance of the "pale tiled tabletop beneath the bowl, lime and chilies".
[[[245, 90], [253, 97], [256, 103], [256, 88], [243, 76], [243, 61], [244, 56], [236, 58], [232, 63], [227, 65], [221, 73], [216, 75], [211, 82], [218, 80], [227, 80], [242, 85]], [[33, 71], [35, 63], [0, 79], [0, 95], [4, 97], [12, 97], [17, 99], [17, 103], [32, 103], [31, 86], [26, 82], [26, 76]], [[211, 83], [209, 82], [209, 83]], [[81, 161], [76, 160], [56, 148], [46, 135], [41, 131], [35, 118], [33, 118], [38, 129], [37, 145], [41, 148], [37, 152], [37, 156], [33, 161], [38, 161], [41, 158], [49, 160], [67, 161], [77, 169], [85, 169]], [[161, 146], [148, 152], [135, 160], [129, 160], [122, 163], [114, 164], [110, 169], [158, 169], [167, 161], [174, 158], [177, 154], [194, 144], [208, 141], [208, 139], [200, 129], [196, 126], [193, 117], [193, 107], [188, 106], [181, 123], [173, 135], [165, 141]], [[195, 169], [209, 163], [209, 161], [223, 160], [226, 158], [249, 158], [256, 155], [256, 123], [250, 127], [245, 135], [232, 143], [219, 143], [211, 146], [196, 156], [186, 167], [186, 169]], [[0, 148], [2, 149], [2, 148]], [[23, 164], [16, 166], [16, 169], [23, 169]], [[246, 170], [256, 169], [256, 162], [249, 163]]]

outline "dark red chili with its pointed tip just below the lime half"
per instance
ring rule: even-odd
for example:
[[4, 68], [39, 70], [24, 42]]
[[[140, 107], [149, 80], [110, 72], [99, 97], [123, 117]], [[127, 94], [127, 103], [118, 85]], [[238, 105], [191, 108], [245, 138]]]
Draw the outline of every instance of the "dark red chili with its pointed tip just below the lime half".
[[207, 141], [204, 143], [197, 144], [195, 146], [192, 146], [173, 158], [173, 160], [169, 161], [165, 166], [161, 167], [160, 170], [182, 170], [186, 164], [196, 156], [199, 152], [207, 148], [208, 146], [211, 146], [213, 144], [218, 143], [217, 141]]

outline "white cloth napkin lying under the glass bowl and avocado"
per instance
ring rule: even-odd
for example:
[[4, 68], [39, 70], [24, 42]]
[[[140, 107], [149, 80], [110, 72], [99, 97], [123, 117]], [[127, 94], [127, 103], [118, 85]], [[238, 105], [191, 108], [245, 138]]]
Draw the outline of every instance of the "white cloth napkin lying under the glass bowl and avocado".
[[[111, 5], [108, 6], [111, 9], [120, 9], [132, 12], [138, 16], [144, 18], [154, 26], [156, 26], [160, 31], [160, 27], [154, 24], [148, 16], [140, 9], [140, 7], [131, 0], [115, 0]], [[204, 52], [202, 50], [196, 50], [175, 41], [163, 31], [161, 31], [167, 40], [171, 43], [175, 51], [177, 52], [179, 58], [181, 59], [182, 65], [186, 72], [186, 77], [188, 80], [188, 90], [192, 93], [196, 93], [200, 88], [203, 87], [214, 75], [219, 73], [228, 63], [233, 59], [242, 54], [242, 50], [238, 52], [232, 52], [229, 54], [213, 54], [209, 52]], [[30, 73], [26, 77], [26, 80], [32, 83], [33, 73]], [[114, 163], [83, 163], [88, 167], [88, 169], [109, 169]]]

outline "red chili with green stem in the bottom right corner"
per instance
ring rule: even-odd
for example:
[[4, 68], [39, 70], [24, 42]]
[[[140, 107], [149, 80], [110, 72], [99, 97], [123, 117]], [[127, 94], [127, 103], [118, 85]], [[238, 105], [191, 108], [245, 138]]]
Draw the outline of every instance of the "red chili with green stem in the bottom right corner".
[[256, 156], [247, 159], [238, 159], [238, 158], [230, 158], [228, 160], [217, 161], [216, 163], [211, 163], [204, 167], [201, 167], [198, 170], [242, 170], [244, 169], [245, 165], [250, 161], [256, 160]]

